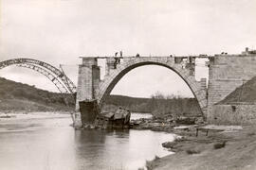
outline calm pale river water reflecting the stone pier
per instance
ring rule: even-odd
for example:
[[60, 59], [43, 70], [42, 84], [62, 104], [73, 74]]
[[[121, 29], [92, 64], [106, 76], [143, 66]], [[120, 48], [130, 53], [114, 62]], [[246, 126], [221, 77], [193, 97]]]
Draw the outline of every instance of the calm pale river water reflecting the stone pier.
[[[75, 130], [68, 114], [15, 116], [0, 118], [1, 170], [134, 170], [155, 155], [172, 153], [161, 144], [174, 140], [173, 134], [135, 129]], [[132, 114], [134, 119], [141, 116]]]

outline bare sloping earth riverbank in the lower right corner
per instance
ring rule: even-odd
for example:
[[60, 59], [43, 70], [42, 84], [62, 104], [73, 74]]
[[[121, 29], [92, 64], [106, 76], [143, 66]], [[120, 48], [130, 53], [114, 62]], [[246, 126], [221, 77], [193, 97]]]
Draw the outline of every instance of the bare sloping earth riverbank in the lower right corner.
[[147, 161], [147, 167], [161, 170], [254, 170], [256, 169], [256, 126], [243, 129], [219, 127], [223, 130], [199, 131], [196, 128], [174, 130], [182, 140], [166, 143], [175, 151], [155, 161]]

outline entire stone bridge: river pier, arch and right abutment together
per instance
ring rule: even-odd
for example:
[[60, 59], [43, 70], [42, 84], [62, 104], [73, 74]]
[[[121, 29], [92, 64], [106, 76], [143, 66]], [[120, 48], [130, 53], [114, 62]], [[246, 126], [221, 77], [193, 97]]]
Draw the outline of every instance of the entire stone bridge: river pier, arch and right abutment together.
[[[205, 63], [209, 67], [208, 83], [206, 78], [197, 81], [194, 77], [195, 59], [202, 58], [208, 59]], [[106, 59], [106, 75], [103, 79], [100, 78], [98, 59]], [[209, 123], [244, 124], [256, 120], [256, 103], [222, 103], [235, 90], [243, 90], [243, 85], [256, 76], [256, 50], [246, 48], [241, 54], [234, 55], [222, 53], [188, 57], [84, 57], [79, 66], [75, 124], [81, 126], [90, 123], [93, 120], [90, 118], [94, 116], [91, 113], [80, 114], [80, 101], [94, 101], [101, 108], [106, 96], [122, 76], [136, 67], [149, 64], [167, 67], [182, 77]]]

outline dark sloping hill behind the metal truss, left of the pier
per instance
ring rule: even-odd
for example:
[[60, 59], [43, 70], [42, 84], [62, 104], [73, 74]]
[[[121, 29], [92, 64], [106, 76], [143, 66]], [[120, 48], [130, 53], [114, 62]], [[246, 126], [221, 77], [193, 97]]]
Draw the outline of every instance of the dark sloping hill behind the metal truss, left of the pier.
[[74, 110], [74, 100], [64, 95], [0, 77], [0, 111]]

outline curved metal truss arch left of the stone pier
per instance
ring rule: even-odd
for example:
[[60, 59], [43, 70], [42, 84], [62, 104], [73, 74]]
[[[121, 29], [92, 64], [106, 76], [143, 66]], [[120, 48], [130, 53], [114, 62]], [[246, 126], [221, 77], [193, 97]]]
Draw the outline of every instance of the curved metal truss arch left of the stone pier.
[[8, 59], [0, 62], [0, 69], [9, 65], [32, 69], [46, 76], [58, 88], [60, 93], [76, 93], [76, 86], [64, 75], [64, 72], [44, 61], [37, 59]]

